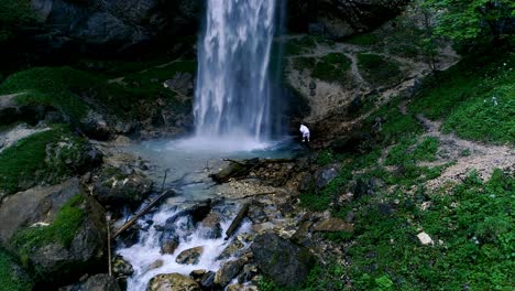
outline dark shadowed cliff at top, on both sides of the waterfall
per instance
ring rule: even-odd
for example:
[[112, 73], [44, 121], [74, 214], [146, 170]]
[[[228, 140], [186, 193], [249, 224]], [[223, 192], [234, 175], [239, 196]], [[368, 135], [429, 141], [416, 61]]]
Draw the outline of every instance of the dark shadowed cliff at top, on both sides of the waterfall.
[[[300, 32], [344, 37], [370, 31], [397, 15], [406, 0], [300, 0], [288, 1], [288, 26]], [[200, 0], [32, 0], [46, 47], [79, 44], [125, 51], [150, 41], [194, 35], [198, 31]], [[107, 48], [108, 47], [108, 48]]]

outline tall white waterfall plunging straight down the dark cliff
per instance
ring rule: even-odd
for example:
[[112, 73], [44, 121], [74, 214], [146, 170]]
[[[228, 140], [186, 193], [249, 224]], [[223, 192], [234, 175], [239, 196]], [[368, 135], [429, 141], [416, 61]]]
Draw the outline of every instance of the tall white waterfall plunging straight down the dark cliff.
[[267, 140], [275, 0], [210, 0], [198, 42], [196, 136]]

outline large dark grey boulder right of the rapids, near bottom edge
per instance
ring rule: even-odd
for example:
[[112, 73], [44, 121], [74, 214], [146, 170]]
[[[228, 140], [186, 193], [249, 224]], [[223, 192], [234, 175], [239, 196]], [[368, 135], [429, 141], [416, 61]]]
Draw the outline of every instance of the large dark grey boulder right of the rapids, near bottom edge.
[[308, 276], [314, 256], [275, 234], [259, 235], [251, 245], [258, 268], [280, 287], [299, 285]]

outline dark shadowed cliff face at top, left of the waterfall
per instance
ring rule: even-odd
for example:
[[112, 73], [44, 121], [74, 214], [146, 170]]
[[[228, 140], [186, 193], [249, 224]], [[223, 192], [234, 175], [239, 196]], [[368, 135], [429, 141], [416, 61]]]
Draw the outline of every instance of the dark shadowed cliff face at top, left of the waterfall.
[[124, 51], [171, 35], [197, 31], [200, 1], [166, 0], [32, 0], [43, 44], [61, 48], [79, 44]]

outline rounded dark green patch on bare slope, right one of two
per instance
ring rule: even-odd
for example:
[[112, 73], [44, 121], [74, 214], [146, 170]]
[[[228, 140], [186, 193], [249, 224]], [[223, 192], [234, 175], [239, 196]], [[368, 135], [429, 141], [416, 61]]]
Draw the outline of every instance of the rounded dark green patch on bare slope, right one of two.
[[387, 85], [401, 77], [397, 62], [376, 54], [359, 54], [358, 67], [368, 82], [377, 86]]

